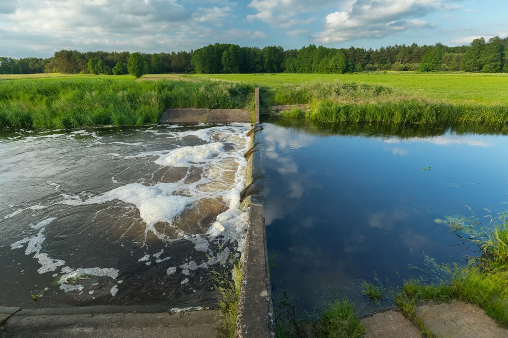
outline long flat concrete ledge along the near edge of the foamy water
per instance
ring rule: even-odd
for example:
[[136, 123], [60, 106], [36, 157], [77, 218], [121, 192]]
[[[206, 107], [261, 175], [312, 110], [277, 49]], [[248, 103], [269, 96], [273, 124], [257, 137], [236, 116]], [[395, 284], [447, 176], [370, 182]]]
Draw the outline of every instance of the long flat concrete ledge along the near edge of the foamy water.
[[179, 314], [81, 314], [58, 316], [13, 316], [0, 337], [89, 338], [89, 337], [216, 337], [217, 311]]

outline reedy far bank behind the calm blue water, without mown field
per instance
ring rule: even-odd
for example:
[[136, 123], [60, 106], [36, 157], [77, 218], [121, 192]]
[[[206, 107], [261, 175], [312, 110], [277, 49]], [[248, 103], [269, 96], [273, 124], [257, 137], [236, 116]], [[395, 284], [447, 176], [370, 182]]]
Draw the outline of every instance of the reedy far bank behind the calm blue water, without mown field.
[[[306, 118], [327, 123], [506, 123], [508, 104], [487, 105], [430, 100], [383, 85], [314, 81], [261, 87], [262, 106], [310, 103]], [[299, 117], [296, 111], [282, 112]]]

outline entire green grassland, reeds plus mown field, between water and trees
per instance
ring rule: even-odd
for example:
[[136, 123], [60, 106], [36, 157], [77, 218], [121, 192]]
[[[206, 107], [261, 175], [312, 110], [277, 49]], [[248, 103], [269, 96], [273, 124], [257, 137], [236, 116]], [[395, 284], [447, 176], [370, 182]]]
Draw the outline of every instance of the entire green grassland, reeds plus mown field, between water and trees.
[[[508, 122], [508, 74], [0, 75], [0, 126], [155, 123], [165, 108], [310, 104], [322, 122]], [[289, 116], [303, 116], [299, 111]]]

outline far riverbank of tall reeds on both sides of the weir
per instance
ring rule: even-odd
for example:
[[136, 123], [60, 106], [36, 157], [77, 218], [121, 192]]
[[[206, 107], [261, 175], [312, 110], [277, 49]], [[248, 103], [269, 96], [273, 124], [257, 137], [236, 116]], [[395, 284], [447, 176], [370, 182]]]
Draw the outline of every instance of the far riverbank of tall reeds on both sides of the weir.
[[[157, 123], [167, 108], [253, 110], [256, 86], [194, 77], [186, 77], [187, 81], [84, 78], [0, 81], [0, 126], [140, 126]], [[262, 107], [310, 104], [306, 113], [293, 110], [280, 115], [306, 116], [313, 121], [508, 122], [506, 92], [497, 100], [483, 99], [480, 94], [476, 100], [454, 100], [446, 94], [431, 99], [386, 85], [341, 81], [261, 85], [260, 90]]]

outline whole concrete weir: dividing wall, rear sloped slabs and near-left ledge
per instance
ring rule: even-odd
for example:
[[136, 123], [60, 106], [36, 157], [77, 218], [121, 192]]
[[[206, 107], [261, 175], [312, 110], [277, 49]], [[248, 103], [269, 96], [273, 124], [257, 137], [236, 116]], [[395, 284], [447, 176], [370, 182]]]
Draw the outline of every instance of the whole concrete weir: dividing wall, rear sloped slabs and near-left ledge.
[[[273, 303], [263, 205], [252, 197], [255, 190], [255, 137], [259, 123], [260, 99], [256, 88], [255, 114], [243, 110], [168, 109], [161, 122], [250, 122], [251, 148], [247, 159], [246, 183], [241, 208], [250, 207], [237, 317], [237, 338], [275, 337]], [[250, 195], [250, 196], [249, 196]], [[173, 311], [174, 310], [174, 311]], [[96, 306], [62, 309], [20, 309], [0, 307], [0, 337], [202, 337], [216, 336], [219, 314], [198, 308], [168, 310], [164, 305], [114, 307]], [[202, 311], [196, 311], [202, 310]]]

